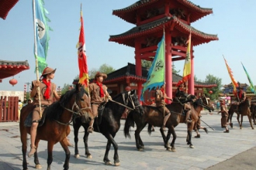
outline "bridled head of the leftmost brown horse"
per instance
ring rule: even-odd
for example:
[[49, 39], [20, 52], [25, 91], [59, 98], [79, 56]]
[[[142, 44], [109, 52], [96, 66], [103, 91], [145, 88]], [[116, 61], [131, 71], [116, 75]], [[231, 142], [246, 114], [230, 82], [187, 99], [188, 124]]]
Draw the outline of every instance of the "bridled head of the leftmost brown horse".
[[82, 123], [87, 123], [93, 119], [90, 97], [88, 96], [88, 92], [85, 90], [85, 87], [81, 84], [77, 84], [74, 90], [75, 100], [72, 110], [81, 116]]

